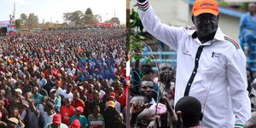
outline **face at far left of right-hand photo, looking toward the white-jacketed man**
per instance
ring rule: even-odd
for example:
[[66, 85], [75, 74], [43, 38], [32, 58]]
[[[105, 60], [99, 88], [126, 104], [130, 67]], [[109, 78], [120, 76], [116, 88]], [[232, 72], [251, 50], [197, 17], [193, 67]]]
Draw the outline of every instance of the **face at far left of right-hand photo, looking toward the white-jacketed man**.
[[151, 101], [154, 94], [154, 82], [149, 77], [143, 79], [141, 85], [139, 86], [139, 93], [142, 96], [146, 96], [149, 101]]

